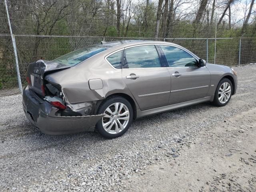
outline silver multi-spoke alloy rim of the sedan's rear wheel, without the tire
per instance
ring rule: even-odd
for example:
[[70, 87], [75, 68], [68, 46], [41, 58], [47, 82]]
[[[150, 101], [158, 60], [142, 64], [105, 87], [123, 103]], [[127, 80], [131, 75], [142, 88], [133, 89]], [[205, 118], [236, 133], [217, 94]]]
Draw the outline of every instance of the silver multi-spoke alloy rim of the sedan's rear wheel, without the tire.
[[116, 102], [108, 106], [104, 114], [102, 126], [104, 130], [110, 134], [120, 133], [126, 128], [130, 120], [129, 109], [121, 102]]

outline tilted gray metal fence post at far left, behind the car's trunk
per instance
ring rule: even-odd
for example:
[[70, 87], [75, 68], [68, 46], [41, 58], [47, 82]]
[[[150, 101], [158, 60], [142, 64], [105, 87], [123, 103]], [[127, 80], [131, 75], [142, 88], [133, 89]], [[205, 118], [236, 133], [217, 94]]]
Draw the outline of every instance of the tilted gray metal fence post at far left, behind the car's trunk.
[[21, 79], [20, 79], [20, 70], [19, 70], [19, 64], [18, 64], [18, 54], [17, 54], [17, 49], [16, 49], [16, 41], [15, 41], [14, 35], [12, 34], [12, 26], [11, 26], [11, 22], [10, 22], [10, 17], [9, 17], [9, 12], [8, 12], [8, 7], [7, 7], [6, 0], [4, 0], [4, 5], [5, 5], [5, 8], [6, 8], [6, 14], [7, 14], [7, 18], [8, 18], [10, 34], [11, 34], [11, 37], [12, 37], [12, 46], [13, 46], [15, 62], [16, 62], [16, 72], [17, 72], [17, 77], [18, 77], [18, 85], [19, 85], [20, 92], [22, 93], [22, 84], [21, 84]]

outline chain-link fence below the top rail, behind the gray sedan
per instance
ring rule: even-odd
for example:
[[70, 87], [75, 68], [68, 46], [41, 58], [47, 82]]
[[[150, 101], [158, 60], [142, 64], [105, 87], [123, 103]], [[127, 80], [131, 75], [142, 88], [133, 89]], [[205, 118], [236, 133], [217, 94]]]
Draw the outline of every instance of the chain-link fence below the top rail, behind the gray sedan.
[[[38, 59], [53, 60], [73, 50], [101, 41], [134, 38], [83, 37], [83, 36], [28, 36], [16, 35], [18, 66], [22, 85], [26, 84], [26, 70], [30, 62]], [[179, 44], [209, 63], [228, 66], [256, 62], [256, 38], [138, 38]], [[216, 43], [216, 48], [215, 48]], [[12, 39], [0, 35], [0, 89], [18, 87]], [[1, 48], [2, 47], [2, 48]], [[215, 52], [216, 50], [216, 52]]]

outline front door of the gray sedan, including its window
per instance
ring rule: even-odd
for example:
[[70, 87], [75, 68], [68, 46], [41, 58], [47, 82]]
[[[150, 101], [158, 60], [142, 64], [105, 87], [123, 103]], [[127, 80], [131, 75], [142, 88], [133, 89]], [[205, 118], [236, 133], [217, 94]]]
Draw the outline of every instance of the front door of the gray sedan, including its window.
[[167, 68], [171, 75], [171, 94], [169, 104], [204, 98], [210, 86], [210, 72], [186, 50], [176, 46], [160, 45]]

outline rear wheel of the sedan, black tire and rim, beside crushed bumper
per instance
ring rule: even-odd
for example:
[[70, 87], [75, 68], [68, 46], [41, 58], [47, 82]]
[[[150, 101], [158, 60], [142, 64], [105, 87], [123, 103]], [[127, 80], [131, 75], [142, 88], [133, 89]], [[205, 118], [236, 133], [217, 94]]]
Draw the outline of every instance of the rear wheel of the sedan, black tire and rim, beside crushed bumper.
[[133, 119], [130, 102], [120, 96], [107, 98], [99, 107], [98, 114], [105, 116], [98, 121], [96, 129], [105, 138], [116, 138], [124, 134]]

